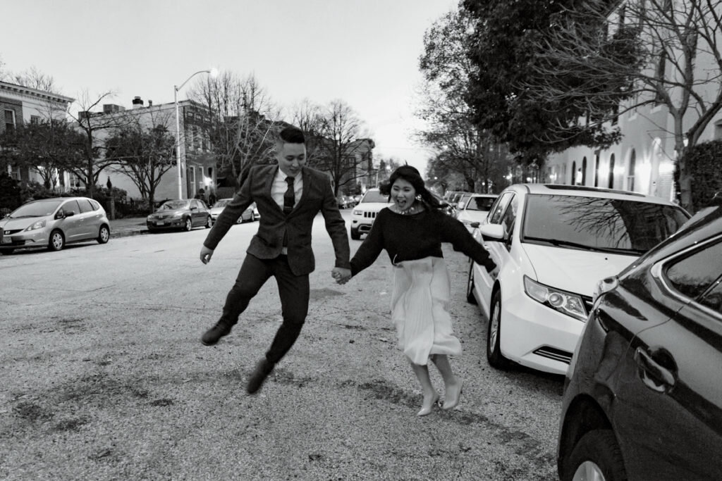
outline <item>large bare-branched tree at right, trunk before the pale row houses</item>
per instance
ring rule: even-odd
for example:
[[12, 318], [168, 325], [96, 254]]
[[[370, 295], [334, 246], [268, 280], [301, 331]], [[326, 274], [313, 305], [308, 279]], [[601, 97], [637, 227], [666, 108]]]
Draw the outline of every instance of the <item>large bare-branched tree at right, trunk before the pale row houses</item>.
[[[579, 123], [614, 123], [629, 110], [664, 105], [673, 119], [680, 200], [691, 208], [684, 154], [722, 108], [722, 3], [629, 0], [616, 14], [606, 3], [588, 1], [557, 17], [537, 40], [536, 75], [526, 87], [547, 105], [588, 112], [588, 120], [556, 125], [550, 133], [557, 137]], [[603, 27], [590, 30], [590, 23]]]

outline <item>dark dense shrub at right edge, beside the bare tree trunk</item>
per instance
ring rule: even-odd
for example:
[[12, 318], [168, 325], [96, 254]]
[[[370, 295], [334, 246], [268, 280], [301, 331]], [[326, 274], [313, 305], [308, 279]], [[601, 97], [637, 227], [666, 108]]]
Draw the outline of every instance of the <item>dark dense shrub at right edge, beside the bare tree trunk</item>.
[[692, 211], [697, 212], [722, 190], [722, 141], [690, 147], [684, 154], [684, 166], [692, 175]]

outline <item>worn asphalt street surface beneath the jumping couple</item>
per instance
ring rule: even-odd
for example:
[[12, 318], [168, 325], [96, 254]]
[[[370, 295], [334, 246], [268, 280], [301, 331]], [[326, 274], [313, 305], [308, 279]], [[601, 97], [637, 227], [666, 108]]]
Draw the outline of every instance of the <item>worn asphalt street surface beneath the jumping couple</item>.
[[304, 330], [264, 389], [245, 394], [280, 322], [275, 283], [218, 345], [199, 337], [257, 225], [233, 226], [209, 265], [205, 229], [0, 256], [0, 479], [557, 479], [562, 379], [487, 365], [486, 322], [464, 300], [468, 265], [451, 247], [464, 346], [452, 364], [466, 380], [456, 410], [416, 417], [388, 257], [336, 285], [321, 217]]

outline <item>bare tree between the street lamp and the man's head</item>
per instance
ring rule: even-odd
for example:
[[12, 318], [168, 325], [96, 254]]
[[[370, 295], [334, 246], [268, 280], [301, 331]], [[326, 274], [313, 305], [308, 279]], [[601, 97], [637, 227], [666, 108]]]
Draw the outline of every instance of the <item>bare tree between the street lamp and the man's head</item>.
[[212, 112], [210, 140], [220, 170], [240, 182], [251, 166], [271, 162], [277, 128], [272, 119], [280, 114], [256, 76], [224, 71], [199, 79], [188, 96]]

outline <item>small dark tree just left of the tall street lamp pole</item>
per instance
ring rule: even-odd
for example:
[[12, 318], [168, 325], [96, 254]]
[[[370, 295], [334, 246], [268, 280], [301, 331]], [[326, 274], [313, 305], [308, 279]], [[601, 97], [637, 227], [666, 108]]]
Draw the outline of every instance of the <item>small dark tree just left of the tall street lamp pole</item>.
[[175, 137], [163, 123], [149, 128], [140, 123], [124, 125], [105, 140], [105, 159], [133, 181], [152, 212], [155, 190], [175, 165]]

